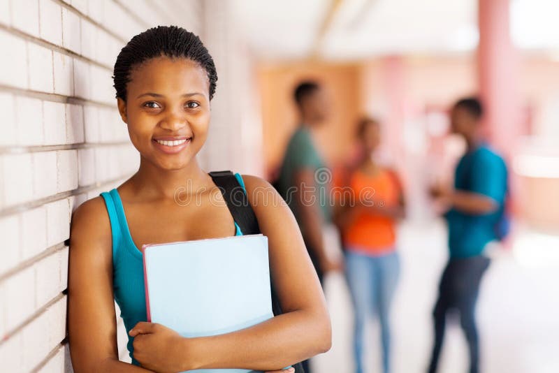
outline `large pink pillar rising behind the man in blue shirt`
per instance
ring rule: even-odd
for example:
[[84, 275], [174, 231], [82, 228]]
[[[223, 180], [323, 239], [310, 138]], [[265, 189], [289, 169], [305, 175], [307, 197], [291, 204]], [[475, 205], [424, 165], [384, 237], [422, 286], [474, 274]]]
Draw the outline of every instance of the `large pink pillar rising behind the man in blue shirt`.
[[518, 54], [511, 43], [510, 0], [479, 0], [478, 77], [489, 139], [508, 159], [521, 134]]

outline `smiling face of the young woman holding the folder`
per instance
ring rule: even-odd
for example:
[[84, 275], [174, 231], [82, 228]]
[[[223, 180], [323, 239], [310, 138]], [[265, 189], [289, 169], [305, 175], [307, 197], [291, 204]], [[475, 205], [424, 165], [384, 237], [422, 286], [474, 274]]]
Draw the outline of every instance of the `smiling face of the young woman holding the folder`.
[[118, 108], [132, 144], [159, 168], [184, 168], [208, 136], [208, 74], [189, 59], [157, 57], [133, 68], [130, 78]]

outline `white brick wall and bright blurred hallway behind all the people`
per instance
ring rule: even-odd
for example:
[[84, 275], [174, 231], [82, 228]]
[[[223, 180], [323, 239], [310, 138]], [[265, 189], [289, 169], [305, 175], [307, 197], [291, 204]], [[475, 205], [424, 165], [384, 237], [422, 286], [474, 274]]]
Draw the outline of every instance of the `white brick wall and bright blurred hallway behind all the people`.
[[[495, 5], [496, 4], [496, 5]], [[398, 170], [409, 220], [393, 304], [393, 372], [426, 371], [447, 228], [428, 189], [451, 184], [464, 143], [449, 106], [487, 101], [491, 145], [507, 156], [511, 249], [496, 251], [478, 307], [483, 373], [559, 372], [559, 0], [0, 0], [0, 373], [72, 372], [66, 306], [71, 214], [138, 170], [112, 73], [132, 36], [177, 24], [215, 59], [218, 89], [203, 168], [273, 180], [301, 124], [292, 90], [332, 95], [317, 130], [328, 167], [354, 156], [358, 119], [382, 122], [379, 161]], [[8, 58], [9, 57], [9, 58]], [[510, 115], [510, 116], [509, 116]], [[351, 306], [327, 279], [333, 350], [319, 373], [353, 373]], [[119, 358], [129, 362], [116, 308]], [[380, 372], [378, 326], [368, 372]], [[374, 333], [374, 334], [373, 334]], [[463, 373], [458, 321], [440, 373]]]

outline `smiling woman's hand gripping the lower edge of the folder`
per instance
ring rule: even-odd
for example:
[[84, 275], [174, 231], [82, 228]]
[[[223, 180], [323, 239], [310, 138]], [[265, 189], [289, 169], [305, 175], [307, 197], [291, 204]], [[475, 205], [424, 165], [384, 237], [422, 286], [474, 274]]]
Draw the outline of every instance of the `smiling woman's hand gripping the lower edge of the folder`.
[[142, 367], [158, 373], [182, 372], [188, 362], [185, 338], [158, 323], [140, 321], [129, 335], [134, 337], [134, 358]]

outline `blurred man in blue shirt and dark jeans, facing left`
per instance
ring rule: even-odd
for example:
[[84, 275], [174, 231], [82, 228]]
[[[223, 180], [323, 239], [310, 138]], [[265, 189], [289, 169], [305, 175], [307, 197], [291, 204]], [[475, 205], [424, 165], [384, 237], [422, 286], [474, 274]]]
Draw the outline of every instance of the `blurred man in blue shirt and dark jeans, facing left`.
[[479, 342], [475, 306], [481, 277], [488, 268], [486, 245], [498, 240], [497, 226], [504, 214], [507, 193], [507, 166], [487, 147], [481, 137], [483, 108], [477, 98], [458, 101], [451, 111], [453, 133], [462, 136], [467, 152], [456, 166], [453, 190], [435, 188], [433, 197], [449, 207], [450, 258], [442, 273], [435, 304], [435, 344], [428, 372], [437, 370], [445, 319], [449, 309], [457, 309], [468, 349], [470, 373], [479, 372]]

